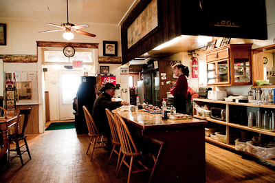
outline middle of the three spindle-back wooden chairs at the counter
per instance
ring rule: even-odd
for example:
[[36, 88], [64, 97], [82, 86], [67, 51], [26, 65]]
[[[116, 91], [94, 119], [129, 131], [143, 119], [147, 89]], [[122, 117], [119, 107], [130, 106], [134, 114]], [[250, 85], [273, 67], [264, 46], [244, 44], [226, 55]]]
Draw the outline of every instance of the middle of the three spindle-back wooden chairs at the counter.
[[118, 129], [116, 127], [116, 124], [115, 124], [115, 118], [113, 117], [113, 114], [111, 113], [111, 111], [109, 109], [105, 109], [106, 111], [106, 115], [107, 115], [107, 118], [108, 118], [108, 121], [109, 121], [109, 126], [110, 126], [110, 129], [111, 129], [111, 143], [113, 144], [113, 149], [111, 151], [111, 154], [110, 154], [110, 157], [109, 157], [109, 160], [108, 160], [108, 164], [111, 160], [111, 157], [113, 155], [113, 152], [115, 152], [117, 155], [118, 155], [118, 163], [116, 165], [116, 171], [118, 171], [118, 164], [120, 162], [120, 154], [121, 154], [121, 151], [118, 153], [118, 151], [115, 150], [115, 147], [119, 147], [120, 148], [120, 139], [118, 137]]

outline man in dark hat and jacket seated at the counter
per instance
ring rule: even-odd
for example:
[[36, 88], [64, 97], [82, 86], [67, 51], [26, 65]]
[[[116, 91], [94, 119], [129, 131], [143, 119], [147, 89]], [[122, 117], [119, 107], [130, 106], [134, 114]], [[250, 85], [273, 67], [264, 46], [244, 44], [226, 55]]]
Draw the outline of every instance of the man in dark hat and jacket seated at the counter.
[[106, 136], [108, 139], [107, 144], [111, 144], [110, 136], [111, 130], [109, 127], [108, 118], [105, 112], [105, 109], [112, 111], [122, 105], [129, 105], [126, 101], [113, 102], [111, 98], [115, 95], [115, 85], [113, 83], [106, 83], [100, 92], [103, 92], [102, 95], [98, 96], [94, 102], [92, 117], [96, 123], [99, 133]]

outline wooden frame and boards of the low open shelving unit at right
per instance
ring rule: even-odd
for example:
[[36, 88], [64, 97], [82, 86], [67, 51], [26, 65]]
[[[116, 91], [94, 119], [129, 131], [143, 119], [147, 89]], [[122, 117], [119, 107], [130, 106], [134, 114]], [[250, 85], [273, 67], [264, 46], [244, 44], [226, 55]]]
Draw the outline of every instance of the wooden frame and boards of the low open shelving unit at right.
[[[263, 134], [266, 136], [275, 136], [275, 131], [272, 130], [264, 130], [264, 129], [256, 129], [252, 127], [248, 127], [248, 114], [250, 112], [254, 112], [256, 116], [256, 111], [260, 110], [262, 111], [262, 114], [267, 111], [267, 113], [270, 113], [270, 111], [274, 111], [275, 105], [256, 105], [252, 103], [233, 103], [233, 102], [225, 102], [221, 100], [208, 100], [208, 99], [199, 99], [199, 98], [194, 98], [194, 103], [203, 106], [203, 105], [208, 105], [209, 107], [218, 107], [221, 109], [225, 109], [225, 121], [223, 120], [217, 120], [213, 118], [202, 118], [201, 116], [197, 116], [197, 111], [195, 108], [194, 110], [194, 118], [199, 118], [199, 119], [204, 119], [208, 121], [209, 126], [213, 125], [219, 125], [219, 127], [222, 127], [226, 133], [226, 142], [219, 142], [217, 140], [213, 140], [210, 137], [206, 136], [206, 142], [210, 142], [212, 144], [217, 144], [218, 146], [225, 147], [228, 149], [236, 149], [234, 142], [230, 143], [229, 142], [229, 134], [236, 133], [238, 132], [239, 137], [241, 137], [241, 133], [243, 132], [248, 132], [252, 133], [252, 136], [258, 135], [262, 136]], [[236, 114], [242, 114], [244, 117], [241, 118], [234, 118]], [[238, 120], [238, 122], [236, 122]], [[251, 137], [251, 136], [250, 136]], [[263, 138], [263, 136], [262, 136]], [[245, 153], [247, 155], [252, 155], [246, 151], [238, 151], [239, 153]], [[252, 155], [256, 158], [259, 158], [258, 156]], [[275, 159], [272, 160], [265, 160], [262, 158], [259, 158], [261, 160], [264, 160], [266, 162], [270, 162], [272, 164], [275, 164]]]

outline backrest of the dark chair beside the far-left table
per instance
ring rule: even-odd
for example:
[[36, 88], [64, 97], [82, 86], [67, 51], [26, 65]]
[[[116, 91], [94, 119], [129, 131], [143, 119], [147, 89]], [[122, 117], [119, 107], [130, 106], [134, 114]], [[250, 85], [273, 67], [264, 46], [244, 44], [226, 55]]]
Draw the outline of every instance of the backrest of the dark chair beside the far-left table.
[[[32, 107], [30, 107], [29, 109], [19, 109], [19, 114], [17, 118], [17, 123], [15, 125], [14, 133], [13, 133], [13, 138], [16, 138], [18, 136], [22, 138], [25, 136], [25, 129], [28, 125], [31, 111], [32, 111]], [[19, 134], [19, 122], [22, 120], [22, 118], [23, 118], [23, 127], [22, 127], [21, 133]]]

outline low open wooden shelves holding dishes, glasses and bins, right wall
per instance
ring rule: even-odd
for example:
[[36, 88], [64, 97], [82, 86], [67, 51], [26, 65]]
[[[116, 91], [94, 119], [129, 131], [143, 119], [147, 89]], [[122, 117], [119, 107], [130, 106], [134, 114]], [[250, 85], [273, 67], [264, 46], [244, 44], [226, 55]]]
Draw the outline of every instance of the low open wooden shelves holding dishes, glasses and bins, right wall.
[[[206, 136], [206, 142], [210, 142], [212, 144], [216, 144], [219, 147], [225, 147], [229, 149], [234, 149], [235, 151], [238, 151], [238, 153], [245, 153], [247, 155], [251, 155], [255, 158], [258, 158], [259, 160], [263, 160], [265, 162], [270, 162], [275, 165], [275, 146], [272, 147], [259, 147], [258, 145], [251, 145], [250, 143], [256, 143], [257, 141], [252, 141], [252, 136], [256, 136], [259, 140], [262, 139], [274, 139], [275, 137], [275, 130], [270, 129], [259, 129], [253, 127], [248, 127], [248, 116], [247, 114], [250, 114], [251, 111], [256, 113], [256, 111], [274, 111], [275, 105], [256, 105], [252, 103], [234, 103], [234, 102], [225, 102], [222, 100], [208, 100], [208, 99], [201, 99], [201, 98], [194, 98], [193, 107], [195, 105], [199, 105], [204, 108], [208, 108], [208, 114], [202, 114], [200, 113], [199, 109], [193, 108], [193, 117], [199, 118], [203, 120], [208, 121], [208, 127], [219, 127], [219, 131], [215, 131], [217, 133], [223, 133], [223, 140], [221, 139], [212, 139], [208, 136]], [[206, 106], [207, 105], [207, 106]], [[217, 111], [214, 111], [212, 109], [216, 108]], [[223, 110], [222, 112], [219, 110]], [[199, 111], [199, 112], [198, 112]], [[207, 110], [205, 110], [207, 111]], [[224, 113], [224, 114], [223, 114]], [[214, 115], [213, 115], [214, 114]], [[218, 116], [215, 116], [215, 114], [218, 114]], [[220, 116], [219, 116], [220, 114]], [[236, 117], [239, 114], [239, 116], [242, 117]], [[215, 116], [215, 117], [214, 117]], [[217, 119], [215, 119], [217, 118]], [[206, 127], [206, 128], [208, 128]], [[271, 128], [271, 127], [270, 127]], [[217, 136], [217, 134], [212, 134], [214, 132], [211, 132], [211, 136]], [[236, 133], [236, 137], [232, 138], [232, 135]], [[245, 141], [240, 141], [239, 139], [243, 138], [243, 133], [249, 133], [250, 138]], [[252, 135], [252, 136], [251, 136]], [[238, 149], [239, 144], [242, 143], [248, 147], [250, 147], [249, 151], [241, 151]], [[234, 145], [236, 143], [236, 146]], [[275, 143], [275, 142], [274, 142]], [[254, 150], [256, 149], [256, 153], [254, 153]], [[259, 150], [257, 150], [259, 149]], [[265, 156], [265, 154], [261, 154], [263, 152], [261, 149], [264, 149], [263, 151], [266, 151], [269, 156]]]

